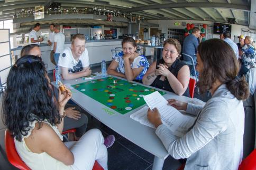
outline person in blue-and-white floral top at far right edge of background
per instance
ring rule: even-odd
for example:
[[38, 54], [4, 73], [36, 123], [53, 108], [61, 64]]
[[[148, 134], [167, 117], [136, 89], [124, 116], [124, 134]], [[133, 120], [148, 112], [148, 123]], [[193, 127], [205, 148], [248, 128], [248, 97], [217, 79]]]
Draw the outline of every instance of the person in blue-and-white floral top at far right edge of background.
[[245, 36], [244, 46], [240, 51], [241, 69], [240, 74], [243, 75], [251, 68], [256, 67], [256, 52], [252, 46], [253, 39], [251, 36]]

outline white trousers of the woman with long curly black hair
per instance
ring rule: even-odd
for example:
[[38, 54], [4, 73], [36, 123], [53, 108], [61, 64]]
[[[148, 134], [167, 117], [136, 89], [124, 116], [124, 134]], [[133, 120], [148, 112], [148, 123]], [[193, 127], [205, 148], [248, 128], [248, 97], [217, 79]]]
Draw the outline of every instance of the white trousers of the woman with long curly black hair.
[[99, 129], [88, 130], [78, 141], [68, 141], [65, 145], [75, 158], [71, 166], [76, 170], [91, 170], [95, 160], [107, 170], [107, 148]]

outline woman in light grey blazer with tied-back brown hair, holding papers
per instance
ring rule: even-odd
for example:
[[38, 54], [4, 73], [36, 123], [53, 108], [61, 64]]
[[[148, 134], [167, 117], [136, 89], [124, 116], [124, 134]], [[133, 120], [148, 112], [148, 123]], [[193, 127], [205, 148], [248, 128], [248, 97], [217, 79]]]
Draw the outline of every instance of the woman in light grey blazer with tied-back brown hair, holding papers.
[[162, 124], [157, 109], [148, 111], [156, 134], [168, 153], [176, 159], [187, 158], [185, 169], [237, 169], [243, 156], [244, 109], [249, 96], [244, 77], [237, 77], [239, 62], [231, 46], [211, 39], [198, 46], [197, 71], [200, 92], [209, 90], [212, 98], [204, 106], [168, 100], [179, 110], [196, 116], [190, 130], [174, 136]]

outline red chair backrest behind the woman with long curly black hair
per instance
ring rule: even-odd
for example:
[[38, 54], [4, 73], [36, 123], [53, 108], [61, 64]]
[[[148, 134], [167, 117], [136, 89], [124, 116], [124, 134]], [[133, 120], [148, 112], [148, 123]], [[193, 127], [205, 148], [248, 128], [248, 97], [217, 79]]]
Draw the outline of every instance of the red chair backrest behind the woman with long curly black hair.
[[5, 130], [5, 149], [6, 149], [7, 158], [13, 166], [15, 166], [16, 168], [22, 169], [22, 170], [30, 169], [21, 160], [21, 158], [15, 148], [14, 138], [10, 134], [10, 131], [8, 131], [7, 129]]

